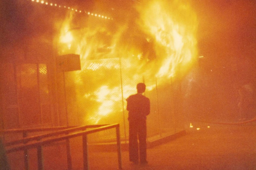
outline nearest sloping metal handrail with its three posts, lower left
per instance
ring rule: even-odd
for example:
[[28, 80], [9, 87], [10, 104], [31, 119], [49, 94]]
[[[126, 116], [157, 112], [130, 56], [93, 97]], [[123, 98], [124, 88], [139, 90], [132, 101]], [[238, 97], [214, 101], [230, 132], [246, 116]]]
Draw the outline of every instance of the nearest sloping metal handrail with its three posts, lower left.
[[[82, 128], [82, 127], [80, 127], [80, 128]], [[47, 144], [50, 144], [52, 142], [57, 142], [57, 141], [61, 141], [61, 140], [69, 140], [70, 138], [73, 138], [73, 137], [82, 136], [83, 137], [83, 169], [84, 170], [89, 170], [87, 135], [91, 134], [91, 133], [99, 132], [99, 131], [102, 131], [102, 130], [111, 129], [111, 128], [116, 128], [116, 142], [117, 142], [117, 151], [118, 151], [118, 167], [119, 167], [119, 169], [122, 169], [119, 124], [104, 125], [104, 126], [101, 126], [101, 127], [96, 127], [94, 129], [83, 130], [82, 132], [76, 132], [76, 133], [64, 135], [64, 136], [61, 136], [61, 137], [53, 137], [53, 138], [50, 138], [50, 139], [40, 140], [40, 141], [33, 142], [33, 143], [22, 144], [22, 145], [14, 147], [14, 148], [7, 148], [6, 153], [15, 152], [15, 151], [18, 151], [18, 150], [26, 151], [30, 148], [37, 148], [38, 169], [43, 170], [44, 169], [44, 165], [43, 165], [43, 161], [42, 161], [42, 157], [43, 157], [42, 146], [43, 145], [47, 145]], [[67, 131], [68, 130], [69, 129], [67, 129]], [[61, 131], [60, 134], [62, 134], [62, 133], [63, 132]], [[69, 169], [70, 168], [72, 168], [72, 167], [69, 167]]]

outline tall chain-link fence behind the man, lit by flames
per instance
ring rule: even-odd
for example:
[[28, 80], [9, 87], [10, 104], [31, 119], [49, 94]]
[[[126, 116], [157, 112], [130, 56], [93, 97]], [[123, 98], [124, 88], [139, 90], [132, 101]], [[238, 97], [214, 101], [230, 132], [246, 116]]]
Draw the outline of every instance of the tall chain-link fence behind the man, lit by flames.
[[[148, 140], [184, 130], [179, 80], [140, 74], [130, 69], [129, 64], [122, 58], [87, 60], [81, 63], [80, 71], [65, 73], [70, 125], [119, 123], [121, 140], [128, 140], [126, 99], [137, 93], [137, 83], [144, 82], [144, 95], [151, 101]], [[100, 132], [90, 137], [90, 142], [112, 141], [114, 134], [111, 130]]]

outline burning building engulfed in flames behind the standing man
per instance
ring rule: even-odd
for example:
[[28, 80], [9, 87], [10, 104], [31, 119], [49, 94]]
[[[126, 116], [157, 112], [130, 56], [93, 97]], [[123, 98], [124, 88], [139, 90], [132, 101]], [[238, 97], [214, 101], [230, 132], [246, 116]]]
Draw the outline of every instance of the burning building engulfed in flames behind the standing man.
[[[198, 67], [199, 56], [191, 3], [1, 3], [1, 128], [120, 123], [126, 140], [126, 98], [145, 82], [148, 136], [184, 130], [184, 77]], [[64, 61], [69, 54], [79, 61]], [[59, 61], [79, 67], [58, 69]]]

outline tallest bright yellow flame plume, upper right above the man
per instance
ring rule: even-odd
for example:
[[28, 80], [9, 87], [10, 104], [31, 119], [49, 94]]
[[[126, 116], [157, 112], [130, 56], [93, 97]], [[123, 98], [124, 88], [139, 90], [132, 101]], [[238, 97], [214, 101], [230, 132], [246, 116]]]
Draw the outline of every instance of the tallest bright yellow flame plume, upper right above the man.
[[140, 7], [140, 27], [155, 40], [157, 57], [161, 57], [156, 75], [175, 76], [178, 67], [188, 67], [196, 56], [196, 16], [180, 1], [151, 1]]

